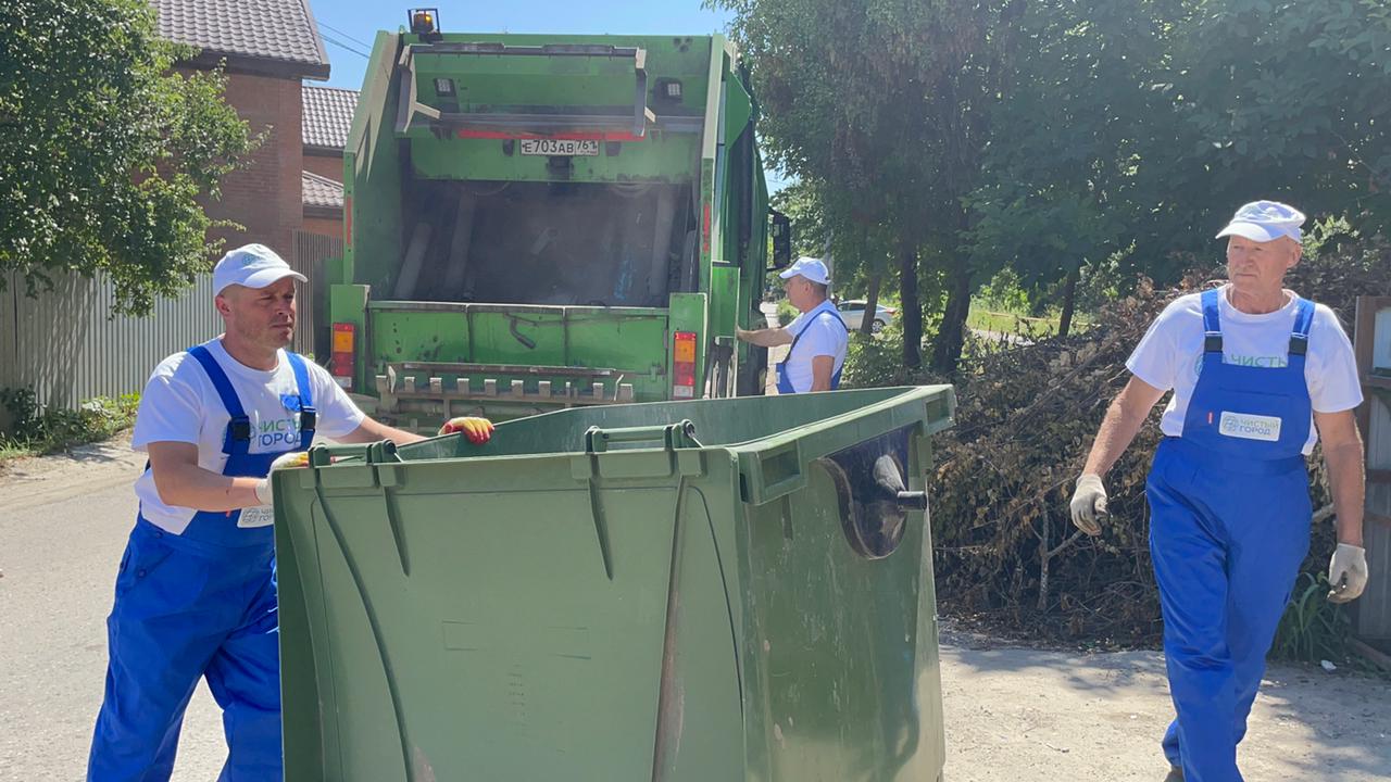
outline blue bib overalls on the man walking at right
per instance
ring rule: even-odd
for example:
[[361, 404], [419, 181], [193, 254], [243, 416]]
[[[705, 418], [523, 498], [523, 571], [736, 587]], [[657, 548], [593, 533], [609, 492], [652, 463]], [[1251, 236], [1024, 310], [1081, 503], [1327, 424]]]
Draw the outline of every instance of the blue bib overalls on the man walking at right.
[[1202, 296], [1202, 373], [1184, 434], [1159, 445], [1145, 491], [1178, 714], [1163, 749], [1187, 782], [1242, 779], [1237, 744], [1309, 551], [1313, 303], [1296, 301], [1288, 365], [1253, 367], [1223, 363], [1219, 295]]

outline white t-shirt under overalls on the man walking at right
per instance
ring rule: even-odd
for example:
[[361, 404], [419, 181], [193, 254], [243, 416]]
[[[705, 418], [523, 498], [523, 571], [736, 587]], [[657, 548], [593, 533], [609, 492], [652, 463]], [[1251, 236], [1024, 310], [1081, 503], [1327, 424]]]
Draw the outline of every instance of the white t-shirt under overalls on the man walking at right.
[[[1223, 363], [1259, 367], [1289, 365], [1289, 334], [1295, 326], [1294, 292], [1285, 291], [1285, 306], [1266, 314], [1248, 314], [1227, 301], [1231, 285], [1221, 287], [1217, 319], [1223, 338]], [[1193, 395], [1198, 374], [1203, 369], [1203, 303], [1202, 294], [1189, 294], [1171, 302], [1155, 319], [1145, 338], [1135, 346], [1125, 369], [1156, 388], [1174, 390], [1164, 408], [1160, 430], [1171, 437], [1184, 433], [1188, 399]], [[1351, 410], [1362, 404], [1358, 360], [1352, 342], [1342, 331], [1338, 316], [1323, 305], [1314, 305], [1309, 326], [1309, 351], [1305, 353], [1305, 381], [1309, 401], [1320, 413]], [[1309, 454], [1319, 440], [1313, 423], [1303, 452]]]

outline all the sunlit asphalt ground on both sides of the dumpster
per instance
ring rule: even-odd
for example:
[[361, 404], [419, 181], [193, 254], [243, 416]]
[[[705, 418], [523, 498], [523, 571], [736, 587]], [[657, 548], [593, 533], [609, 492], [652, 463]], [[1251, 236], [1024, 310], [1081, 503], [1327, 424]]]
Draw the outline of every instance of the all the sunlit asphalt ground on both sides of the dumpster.
[[[0, 466], [0, 782], [82, 779], [106, 668], [106, 615], [142, 466], [124, 441]], [[942, 643], [951, 782], [1159, 782], [1171, 717], [1155, 651], [1077, 654]], [[175, 781], [210, 781], [225, 749], [200, 686]], [[1241, 749], [1252, 782], [1391, 778], [1391, 683], [1273, 667]]]

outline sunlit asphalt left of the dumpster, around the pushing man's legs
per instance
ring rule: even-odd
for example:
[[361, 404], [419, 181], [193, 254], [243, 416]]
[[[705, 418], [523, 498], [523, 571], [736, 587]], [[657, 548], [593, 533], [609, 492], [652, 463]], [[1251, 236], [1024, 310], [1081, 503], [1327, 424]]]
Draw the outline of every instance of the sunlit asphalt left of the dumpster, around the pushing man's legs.
[[[0, 782], [82, 779], [106, 673], [106, 615], [142, 459], [124, 442], [0, 472]], [[174, 779], [210, 781], [227, 750], [206, 685]]]

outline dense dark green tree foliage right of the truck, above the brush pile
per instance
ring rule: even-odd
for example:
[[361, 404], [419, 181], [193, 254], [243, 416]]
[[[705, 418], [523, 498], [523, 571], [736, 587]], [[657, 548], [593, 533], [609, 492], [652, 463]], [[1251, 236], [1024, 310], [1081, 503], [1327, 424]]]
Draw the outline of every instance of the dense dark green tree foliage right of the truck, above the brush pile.
[[1391, 224], [1384, 0], [719, 4], [771, 157], [944, 292], [939, 370], [1003, 269], [1035, 296], [1097, 271], [1170, 284], [1257, 198]]

